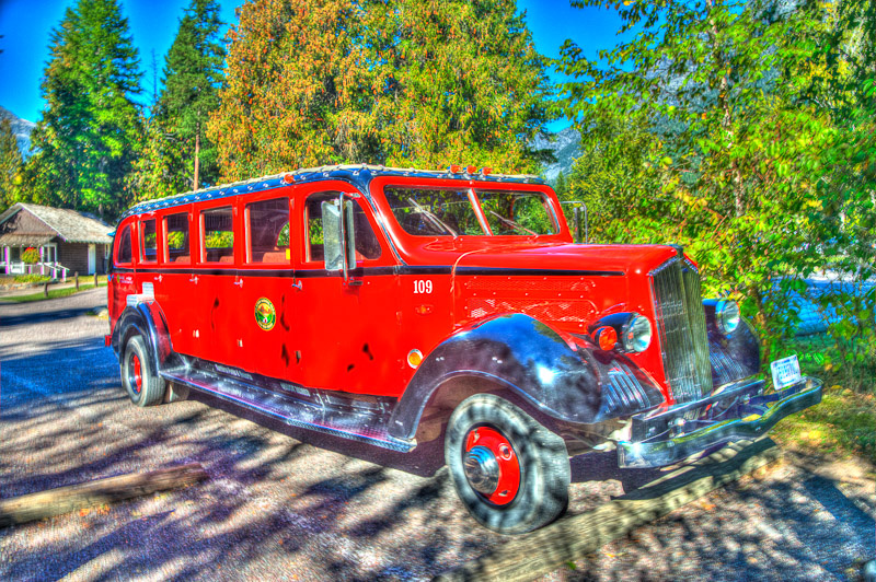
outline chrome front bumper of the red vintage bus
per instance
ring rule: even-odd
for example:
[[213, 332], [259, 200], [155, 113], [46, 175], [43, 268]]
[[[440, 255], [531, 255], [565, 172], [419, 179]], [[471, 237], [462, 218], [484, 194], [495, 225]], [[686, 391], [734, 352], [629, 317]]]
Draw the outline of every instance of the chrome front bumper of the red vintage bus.
[[818, 379], [804, 377], [770, 394], [763, 386], [763, 380], [742, 381], [693, 403], [633, 417], [631, 440], [618, 443], [618, 464], [671, 465], [716, 445], [757, 439], [786, 416], [821, 401]]

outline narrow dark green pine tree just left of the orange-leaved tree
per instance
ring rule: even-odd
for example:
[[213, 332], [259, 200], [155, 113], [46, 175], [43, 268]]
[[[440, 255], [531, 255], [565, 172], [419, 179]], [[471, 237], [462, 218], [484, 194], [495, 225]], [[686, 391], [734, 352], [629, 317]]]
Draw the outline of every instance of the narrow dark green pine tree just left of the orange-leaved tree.
[[215, 0], [192, 0], [164, 66], [158, 116], [171, 131], [168, 138], [186, 154], [180, 178], [194, 189], [200, 183], [215, 184], [219, 177], [216, 146], [206, 139], [206, 129], [219, 106], [226, 55], [219, 42], [221, 25]]

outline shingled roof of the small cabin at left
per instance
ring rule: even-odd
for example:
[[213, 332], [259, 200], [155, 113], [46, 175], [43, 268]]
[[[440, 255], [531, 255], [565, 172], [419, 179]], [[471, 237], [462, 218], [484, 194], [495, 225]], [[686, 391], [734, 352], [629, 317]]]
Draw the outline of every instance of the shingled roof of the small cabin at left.
[[[46, 230], [39, 229], [42, 232], [9, 232], [4, 233], [3, 237], [28, 236], [28, 237], [45, 237], [50, 232], [57, 233], [61, 241], [67, 243], [93, 243], [93, 244], [110, 244], [112, 238], [108, 233], [113, 228], [108, 224], [101, 222], [97, 218], [69, 210], [67, 208], [53, 208], [49, 206], [32, 205], [24, 202], [16, 202], [9, 207], [5, 212], [0, 214], [0, 224], [14, 217], [22, 210], [26, 210], [39, 221], [45, 223]], [[48, 231], [48, 232], [47, 232]], [[8, 241], [7, 244], [12, 241]]]

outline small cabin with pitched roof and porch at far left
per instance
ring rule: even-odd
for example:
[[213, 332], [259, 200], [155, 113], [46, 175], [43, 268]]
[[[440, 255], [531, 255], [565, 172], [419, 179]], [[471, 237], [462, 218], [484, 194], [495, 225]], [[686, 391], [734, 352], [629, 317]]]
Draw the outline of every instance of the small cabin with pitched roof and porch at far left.
[[[113, 228], [96, 217], [67, 208], [18, 202], [0, 214], [0, 268], [5, 275], [47, 275], [65, 279], [103, 275]], [[31, 253], [27, 249], [32, 248]], [[36, 260], [26, 260], [27, 256]]]

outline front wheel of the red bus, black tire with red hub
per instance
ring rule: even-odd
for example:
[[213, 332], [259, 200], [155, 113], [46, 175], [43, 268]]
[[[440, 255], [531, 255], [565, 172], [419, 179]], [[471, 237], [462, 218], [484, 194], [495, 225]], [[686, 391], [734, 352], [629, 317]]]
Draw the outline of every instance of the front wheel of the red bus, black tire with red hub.
[[[481, 434], [486, 434], [492, 441], [481, 441], [485, 444], [479, 446]], [[500, 443], [498, 449], [496, 442]], [[495, 488], [491, 479], [482, 481], [475, 478], [472, 481], [471, 473], [466, 474], [465, 459], [479, 447], [492, 451], [493, 461], [497, 461], [496, 472], [500, 477]], [[568, 504], [570, 469], [563, 439], [498, 396], [477, 394], [457, 407], [447, 426], [445, 461], [465, 508], [482, 525], [495, 532], [531, 532], [554, 521]], [[486, 463], [488, 465], [492, 461], [487, 458]], [[519, 480], [514, 478], [517, 469]], [[506, 473], [510, 481], [506, 479]], [[475, 477], [483, 475], [486, 473], [475, 472]], [[508, 482], [517, 482], [516, 492], [512, 492], [512, 486], [506, 488]]]

